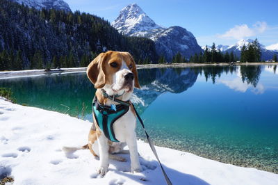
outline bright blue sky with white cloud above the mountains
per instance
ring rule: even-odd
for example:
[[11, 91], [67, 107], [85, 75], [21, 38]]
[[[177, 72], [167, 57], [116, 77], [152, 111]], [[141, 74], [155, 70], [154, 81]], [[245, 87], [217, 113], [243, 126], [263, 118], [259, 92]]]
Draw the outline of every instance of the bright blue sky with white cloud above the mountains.
[[104, 17], [109, 22], [129, 3], [161, 26], [182, 26], [199, 45], [234, 45], [241, 38], [258, 38], [263, 45], [278, 43], [278, 0], [64, 0], [70, 8]]

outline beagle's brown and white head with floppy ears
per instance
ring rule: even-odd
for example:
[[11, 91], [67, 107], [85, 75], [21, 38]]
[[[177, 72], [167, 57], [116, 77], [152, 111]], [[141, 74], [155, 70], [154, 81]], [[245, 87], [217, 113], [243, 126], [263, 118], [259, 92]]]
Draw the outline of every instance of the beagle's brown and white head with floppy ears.
[[108, 94], [132, 93], [134, 86], [140, 88], [136, 63], [128, 52], [99, 54], [88, 65], [87, 76], [95, 88], [104, 88]]

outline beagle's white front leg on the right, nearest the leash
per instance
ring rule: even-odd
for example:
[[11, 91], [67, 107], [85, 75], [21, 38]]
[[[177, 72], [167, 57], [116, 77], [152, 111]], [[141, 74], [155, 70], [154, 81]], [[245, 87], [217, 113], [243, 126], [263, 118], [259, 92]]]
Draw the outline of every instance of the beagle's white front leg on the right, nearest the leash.
[[131, 172], [141, 172], [142, 168], [139, 163], [135, 131], [133, 131], [133, 133], [129, 135], [129, 138], [126, 139], [126, 144], [129, 147], [129, 153], [131, 157]]

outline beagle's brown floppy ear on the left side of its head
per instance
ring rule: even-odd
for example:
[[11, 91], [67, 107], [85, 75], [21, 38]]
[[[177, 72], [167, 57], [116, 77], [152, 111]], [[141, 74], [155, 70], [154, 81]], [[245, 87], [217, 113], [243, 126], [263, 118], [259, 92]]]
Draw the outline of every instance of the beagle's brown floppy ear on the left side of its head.
[[103, 88], [106, 83], [104, 74], [104, 61], [106, 53], [101, 53], [87, 67], [87, 76], [95, 88]]

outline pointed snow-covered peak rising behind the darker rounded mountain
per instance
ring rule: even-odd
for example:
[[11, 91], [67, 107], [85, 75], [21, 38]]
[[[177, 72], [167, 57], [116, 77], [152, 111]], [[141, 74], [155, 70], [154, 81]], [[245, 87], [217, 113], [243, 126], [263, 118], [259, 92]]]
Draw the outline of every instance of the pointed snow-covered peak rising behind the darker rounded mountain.
[[112, 26], [125, 35], [161, 28], [136, 3], [123, 8], [120, 16], [112, 22]]

